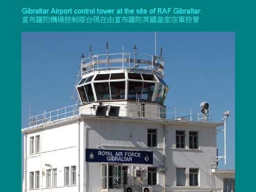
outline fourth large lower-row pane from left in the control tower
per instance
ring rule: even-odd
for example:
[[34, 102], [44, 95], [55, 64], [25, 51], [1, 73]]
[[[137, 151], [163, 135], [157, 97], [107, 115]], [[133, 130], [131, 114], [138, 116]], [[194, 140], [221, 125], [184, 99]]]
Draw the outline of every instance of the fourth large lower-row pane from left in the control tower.
[[125, 81], [110, 82], [111, 99], [125, 98]]

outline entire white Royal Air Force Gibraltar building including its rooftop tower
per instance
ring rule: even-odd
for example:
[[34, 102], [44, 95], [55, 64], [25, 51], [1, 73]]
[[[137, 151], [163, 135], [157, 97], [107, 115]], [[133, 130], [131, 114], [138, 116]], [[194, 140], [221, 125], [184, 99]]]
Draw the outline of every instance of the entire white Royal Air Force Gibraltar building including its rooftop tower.
[[30, 117], [22, 129], [23, 191], [234, 192], [234, 171], [216, 169], [224, 123], [208, 106], [163, 105], [161, 54], [90, 55], [81, 69], [80, 107]]

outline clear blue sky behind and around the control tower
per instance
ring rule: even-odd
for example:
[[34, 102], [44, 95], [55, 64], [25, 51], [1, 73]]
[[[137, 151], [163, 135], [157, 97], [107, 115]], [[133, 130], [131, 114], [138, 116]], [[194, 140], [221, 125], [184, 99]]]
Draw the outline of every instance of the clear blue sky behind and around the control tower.
[[[154, 32], [22, 32], [21, 126], [32, 114], [41, 114], [75, 104], [71, 93], [78, 74], [81, 53], [154, 54]], [[227, 158], [219, 169], [235, 169], [235, 33], [157, 32], [156, 50], [163, 48], [165, 76], [169, 85], [164, 105], [199, 109], [209, 103], [213, 121], [227, 121]], [[218, 129], [223, 129], [219, 127]], [[23, 145], [23, 143], [22, 143]], [[217, 135], [219, 155], [224, 155], [224, 134]], [[23, 151], [23, 148], [22, 148]], [[22, 152], [23, 153], [23, 152]], [[23, 161], [23, 160], [22, 160]]]

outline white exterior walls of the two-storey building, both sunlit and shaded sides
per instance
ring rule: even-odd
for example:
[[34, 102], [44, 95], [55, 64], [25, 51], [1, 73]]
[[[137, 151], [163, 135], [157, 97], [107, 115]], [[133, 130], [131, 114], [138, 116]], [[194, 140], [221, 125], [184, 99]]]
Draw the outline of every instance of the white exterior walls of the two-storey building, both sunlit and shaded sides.
[[[139, 166], [159, 167], [164, 165], [164, 121], [145, 121], [117, 118], [84, 118], [80, 123], [80, 191], [98, 192], [101, 190], [101, 163], [85, 162], [86, 148], [151, 150], [154, 154], [153, 165], [129, 165], [128, 174], [133, 176], [133, 169]], [[157, 147], [147, 147], [148, 129], [157, 129]], [[185, 130], [186, 148], [176, 149], [176, 130]], [[189, 149], [189, 131], [198, 131], [199, 149]], [[211, 187], [211, 164], [216, 160], [215, 126], [205, 124], [167, 123], [166, 135], [166, 185], [167, 191], [207, 191]], [[30, 137], [40, 135], [41, 152], [29, 154]], [[40, 171], [40, 190], [43, 191], [76, 191], [78, 190], [78, 121], [55, 125], [36, 133], [27, 135], [27, 189], [29, 190], [29, 172]], [[46, 189], [46, 176], [42, 170], [50, 169], [44, 164], [57, 168], [57, 188]], [[76, 186], [64, 186], [64, 167], [76, 165]], [[176, 167], [187, 169], [185, 187], [176, 186]], [[189, 169], [199, 168], [199, 186], [189, 186]], [[219, 178], [215, 182], [219, 183]], [[221, 180], [221, 178], [220, 178]], [[130, 180], [128, 180], [130, 182]], [[132, 184], [132, 183], [128, 183]], [[143, 179], [147, 185], [147, 179]], [[42, 185], [42, 186], [41, 186]], [[158, 185], [154, 191], [161, 191], [164, 186], [164, 172], [158, 172]]]

